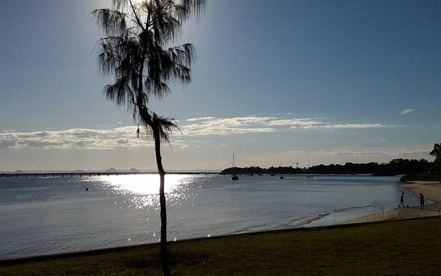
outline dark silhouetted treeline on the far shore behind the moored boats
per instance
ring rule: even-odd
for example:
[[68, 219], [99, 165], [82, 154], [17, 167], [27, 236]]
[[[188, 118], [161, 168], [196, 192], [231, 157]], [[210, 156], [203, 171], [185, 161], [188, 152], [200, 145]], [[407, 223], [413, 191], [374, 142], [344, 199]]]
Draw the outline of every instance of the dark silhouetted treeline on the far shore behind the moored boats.
[[270, 167], [263, 169], [260, 167], [247, 168], [228, 168], [221, 174], [374, 174], [374, 175], [399, 175], [399, 174], [432, 174], [434, 162], [426, 159], [393, 159], [388, 163], [352, 163], [347, 162], [344, 165], [329, 164], [315, 165], [307, 168], [289, 167]]

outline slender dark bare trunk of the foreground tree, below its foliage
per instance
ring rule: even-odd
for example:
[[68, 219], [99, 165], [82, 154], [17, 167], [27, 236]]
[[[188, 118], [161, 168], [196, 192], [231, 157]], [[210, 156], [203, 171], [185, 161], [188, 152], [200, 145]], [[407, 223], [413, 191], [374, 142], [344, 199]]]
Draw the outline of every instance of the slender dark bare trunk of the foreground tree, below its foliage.
[[159, 135], [159, 130], [155, 127], [153, 129], [153, 136], [155, 138], [155, 152], [156, 152], [156, 163], [158, 165], [158, 172], [160, 178], [159, 186], [159, 203], [161, 207], [161, 266], [164, 276], [170, 276], [170, 267], [168, 264], [168, 252], [167, 252], [167, 211], [165, 205], [165, 194], [164, 194], [164, 176], [165, 171], [162, 167], [162, 157], [161, 157], [161, 137]]

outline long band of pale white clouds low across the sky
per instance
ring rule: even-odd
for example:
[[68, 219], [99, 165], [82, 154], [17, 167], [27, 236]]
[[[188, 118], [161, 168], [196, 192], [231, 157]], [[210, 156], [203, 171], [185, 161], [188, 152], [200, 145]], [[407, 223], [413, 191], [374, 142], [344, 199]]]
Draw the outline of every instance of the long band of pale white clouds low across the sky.
[[[268, 133], [283, 129], [367, 129], [384, 128], [389, 125], [371, 123], [329, 123], [318, 118], [279, 119], [267, 116], [234, 118], [191, 118], [181, 126], [184, 136], [233, 135], [246, 133]], [[178, 135], [178, 133], [176, 134]], [[176, 136], [177, 137], [177, 136]], [[181, 138], [182, 136], [180, 136]], [[136, 127], [125, 126], [114, 129], [72, 128], [57, 131], [0, 132], [0, 148], [42, 149], [113, 149], [117, 147], [152, 147], [152, 140], [137, 139]], [[181, 149], [195, 148], [197, 140], [173, 140], [172, 145]], [[219, 145], [225, 147], [226, 145]]]

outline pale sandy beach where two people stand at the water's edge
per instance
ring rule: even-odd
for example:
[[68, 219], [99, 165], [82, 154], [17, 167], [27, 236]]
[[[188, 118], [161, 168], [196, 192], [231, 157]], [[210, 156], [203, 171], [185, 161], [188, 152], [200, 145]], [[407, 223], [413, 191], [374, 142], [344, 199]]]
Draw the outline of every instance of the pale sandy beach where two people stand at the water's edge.
[[[405, 202], [409, 207], [395, 208], [383, 213], [375, 213], [371, 215], [362, 216], [351, 220], [348, 223], [363, 223], [363, 222], [378, 222], [381, 220], [403, 219], [412, 217], [437, 216], [441, 209], [441, 183], [434, 181], [414, 181], [402, 182], [399, 187], [403, 187], [410, 191], [415, 197], [419, 197], [420, 192], [423, 193], [426, 200], [430, 200], [432, 204], [426, 204], [425, 209], [420, 209], [418, 200], [413, 202]], [[397, 205], [400, 203], [397, 199]]]

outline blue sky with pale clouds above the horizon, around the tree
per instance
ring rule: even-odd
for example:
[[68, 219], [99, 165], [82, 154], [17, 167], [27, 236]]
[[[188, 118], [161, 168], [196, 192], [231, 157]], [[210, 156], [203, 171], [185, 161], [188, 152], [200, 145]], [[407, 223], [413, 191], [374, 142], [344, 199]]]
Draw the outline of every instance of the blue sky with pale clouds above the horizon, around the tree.
[[[105, 0], [6, 0], [0, 10], [0, 171], [156, 168], [102, 94], [92, 17]], [[173, 170], [426, 158], [441, 142], [441, 2], [208, 0], [184, 27], [198, 60], [154, 100], [182, 134]], [[178, 43], [178, 44], [179, 44]]]

